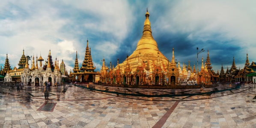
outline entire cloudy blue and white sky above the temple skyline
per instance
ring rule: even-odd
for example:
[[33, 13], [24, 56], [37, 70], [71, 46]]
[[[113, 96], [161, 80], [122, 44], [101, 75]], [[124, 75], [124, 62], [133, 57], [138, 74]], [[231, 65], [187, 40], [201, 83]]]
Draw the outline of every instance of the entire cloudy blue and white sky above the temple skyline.
[[[51, 55], [64, 60], [68, 72], [74, 67], [75, 52], [83, 61], [89, 40], [96, 70], [101, 59], [125, 60], [140, 40], [149, 9], [152, 35], [159, 50], [183, 63], [196, 64], [196, 47], [206, 59], [207, 48], [213, 70], [232, 65], [244, 67], [246, 53], [256, 61], [256, 1], [175, 0], [1, 0], [0, 64], [6, 52], [10, 64], [18, 67], [24, 47], [27, 55]], [[193, 67], [193, 66], [192, 66]]]

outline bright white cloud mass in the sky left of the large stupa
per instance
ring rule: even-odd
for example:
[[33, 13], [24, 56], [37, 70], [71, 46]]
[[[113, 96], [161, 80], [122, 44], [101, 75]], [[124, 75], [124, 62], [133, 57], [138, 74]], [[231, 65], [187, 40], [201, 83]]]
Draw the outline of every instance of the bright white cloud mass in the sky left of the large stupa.
[[[60, 7], [55, 6], [59, 4]], [[90, 44], [95, 49], [102, 50], [103, 47], [112, 49], [113, 55], [116, 53], [116, 48], [126, 38], [131, 25], [132, 12], [126, 1], [26, 1], [18, 0], [3, 1], [0, 6], [0, 14], [9, 13], [0, 19], [0, 51], [10, 52], [12, 55], [18, 55], [18, 58], [9, 56], [12, 67], [18, 66], [18, 61], [22, 55], [23, 47], [25, 54], [36, 55], [40, 54], [45, 59], [48, 55], [48, 50], [51, 48], [51, 55], [66, 61], [74, 61], [75, 56], [71, 56], [77, 49], [80, 54], [79, 61], [83, 60], [85, 52], [84, 42], [80, 42], [77, 35], [88, 35], [89, 33], [104, 32], [113, 35], [115, 40], [111, 44], [96, 45]], [[93, 15], [97, 20], [85, 20], [81, 24], [76, 24], [74, 18], [83, 17], [69, 15], [63, 16], [63, 8], [70, 10], [74, 14]], [[77, 12], [76, 12], [77, 11]], [[74, 29], [65, 29], [66, 25], [73, 25]], [[77, 25], [77, 26], [76, 26]], [[82, 28], [80, 26], [83, 26]], [[89, 30], [84, 32], [83, 29]], [[98, 35], [99, 36], [99, 35]], [[88, 38], [88, 37], [87, 37]], [[89, 39], [89, 41], [94, 42]], [[104, 51], [106, 52], [106, 51]], [[95, 56], [95, 55], [94, 55]], [[97, 57], [97, 56], [95, 56]], [[72, 60], [73, 59], [73, 60]], [[97, 58], [93, 58], [96, 60]], [[1, 59], [0, 62], [4, 62]], [[2, 63], [3, 64], [3, 63]], [[73, 68], [66, 64], [68, 68]]]

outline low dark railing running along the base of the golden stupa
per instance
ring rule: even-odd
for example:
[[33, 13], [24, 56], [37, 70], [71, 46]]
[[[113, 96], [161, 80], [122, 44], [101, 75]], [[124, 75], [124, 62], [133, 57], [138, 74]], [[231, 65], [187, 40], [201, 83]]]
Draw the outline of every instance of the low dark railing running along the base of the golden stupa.
[[[77, 83], [79, 84], [79, 83]], [[191, 89], [191, 88], [201, 88], [201, 87], [217, 87], [218, 84], [209, 85], [128, 85], [128, 84], [104, 84], [104, 83], [94, 83], [98, 85], [111, 86], [111, 87], [128, 87], [128, 88], [152, 88], [152, 89]]]

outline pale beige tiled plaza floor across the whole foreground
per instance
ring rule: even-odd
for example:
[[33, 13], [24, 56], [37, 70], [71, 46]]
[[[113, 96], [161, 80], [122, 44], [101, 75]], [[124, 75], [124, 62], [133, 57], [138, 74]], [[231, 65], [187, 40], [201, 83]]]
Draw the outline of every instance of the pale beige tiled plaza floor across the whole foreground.
[[[110, 98], [113, 96], [79, 87], [63, 91], [66, 87], [51, 87], [50, 100], [43, 99], [41, 87], [27, 87], [18, 93], [15, 87], [1, 90], [5, 93], [0, 93], [0, 128], [151, 128], [175, 103], [148, 101], [151, 98], [146, 97]], [[212, 94], [220, 95], [217, 98], [182, 100], [163, 128], [256, 128], [256, 88], [253, 84], [243, 87], [249, 90]], [[58, 95], [60, 101], [51, 100], [58, 99]], [[57, 103], [53, 112], [37, 111], [45, 102]]]

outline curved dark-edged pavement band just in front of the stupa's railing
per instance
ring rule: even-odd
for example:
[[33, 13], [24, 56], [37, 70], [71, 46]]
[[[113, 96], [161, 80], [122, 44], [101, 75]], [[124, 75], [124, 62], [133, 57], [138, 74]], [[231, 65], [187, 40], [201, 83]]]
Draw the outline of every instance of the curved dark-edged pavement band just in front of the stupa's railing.
[[[118, 93], [129, 93], [129, 94], [140, 94], [140, 95], [186, 95], [186, 94], [197, 94], [197, 93], [208, 93], [203, 95], [194, 95], [194, 96], [173, 96], [173, 97], [143, 97], [143, 96], [125, 96], [125, 95], [116, 95], [115, 93], [105, 93], [112, 96], [125, 97], [130, 99], [143, 99], [143, 100], [152, 100], [152, 101], [188, 101], [188, 100], [198, 100], [198, 99], [211, 99], [214, 97], [231, 95], [234, 93], [240, 93], [246, 90], [249, 90], [251, 87], [247, 85], [241, 85], [239, 88], [235, 84], [220, 84], [219, 87], [212, 88], [203, 88], [200, 91], [200, 88], [195, 89], [144, 89], [144, 88], [125, 88], [125, 87], [111, 87], [111, 86], [101, 86], [93, 84], [77, 84], [79, 86], [97, 89], [97, 90], [106, 90], [109, 92], [118, 92]], [[221, 91], [222, 92], [215, 91]], [[99, 91], [97, 91], [99, 92]]]

